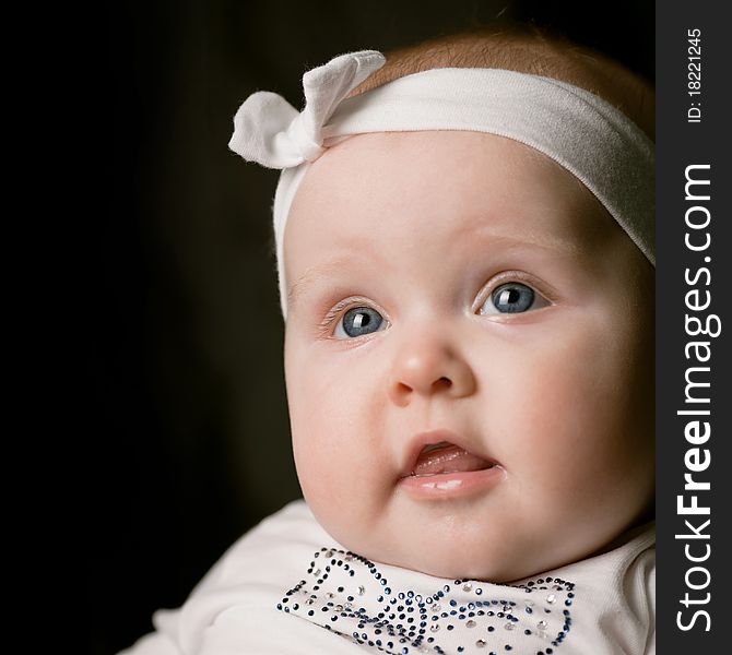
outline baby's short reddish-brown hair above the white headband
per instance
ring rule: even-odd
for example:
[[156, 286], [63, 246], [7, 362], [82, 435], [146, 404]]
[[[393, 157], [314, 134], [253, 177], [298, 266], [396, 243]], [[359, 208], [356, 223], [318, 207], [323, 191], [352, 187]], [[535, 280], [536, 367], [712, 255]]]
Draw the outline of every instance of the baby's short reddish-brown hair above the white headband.
[[623, 64], [533, 24], [507, 24], [439, 36], [385, 53], [386, 64], [351, 95], [436, 68], [495, 68], [553, 78], [607, 100], [654, 138], [653, 87]]

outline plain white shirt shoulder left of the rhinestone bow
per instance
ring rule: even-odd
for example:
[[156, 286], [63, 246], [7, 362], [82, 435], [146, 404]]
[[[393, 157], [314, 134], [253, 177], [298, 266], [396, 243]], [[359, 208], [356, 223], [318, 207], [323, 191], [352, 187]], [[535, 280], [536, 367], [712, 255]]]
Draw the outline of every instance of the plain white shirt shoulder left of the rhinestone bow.
[[304, 500], [288, 503], [235, 541], [180, 608], [155, 612], [156, 632], [126, 655], [332, 652], [332, 635], [293, 621], [278, 603], [303, 576], [304, 562], [337, 547]]

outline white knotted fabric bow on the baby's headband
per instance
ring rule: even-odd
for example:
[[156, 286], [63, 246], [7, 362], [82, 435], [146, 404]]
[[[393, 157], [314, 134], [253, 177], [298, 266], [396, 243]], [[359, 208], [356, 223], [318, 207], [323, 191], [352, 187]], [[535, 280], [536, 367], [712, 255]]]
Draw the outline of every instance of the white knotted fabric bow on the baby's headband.
[[323, 152], [323, 127], [349, 93], [380, 69], [376, 50], [349, 52], [303, 75], [305, 109], [298, 112], [276, 93], [250, 95], [234, 117], [228, 147], [268, 168], [292, 168]]

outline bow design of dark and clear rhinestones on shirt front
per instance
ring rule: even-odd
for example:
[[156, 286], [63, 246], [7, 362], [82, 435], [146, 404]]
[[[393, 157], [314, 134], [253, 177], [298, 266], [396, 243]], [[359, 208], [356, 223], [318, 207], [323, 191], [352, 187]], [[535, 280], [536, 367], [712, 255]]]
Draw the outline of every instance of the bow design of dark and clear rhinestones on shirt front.
[[571, 628], [574, 590], [551, 576], [517, 585], [456, 580], [439, 588], [397, 590], [367, 559], [321, 548], [278, 609], [393, 655], [552, 655]]

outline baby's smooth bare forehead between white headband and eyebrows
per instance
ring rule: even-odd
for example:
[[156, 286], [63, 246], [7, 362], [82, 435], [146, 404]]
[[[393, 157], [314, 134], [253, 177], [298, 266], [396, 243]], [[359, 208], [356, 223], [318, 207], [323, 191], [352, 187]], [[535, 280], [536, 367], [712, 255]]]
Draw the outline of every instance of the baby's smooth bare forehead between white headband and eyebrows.
[[522, 143], [469, 131], [381, 132], [349, 139], [310, 166], [285, 250], [303, 238], [356, 250], [364, 241], [409, 247], [433, 236], [449, 246], [480, 235], [579, 249], [604, 230], [619, 227], [594, 195]]

